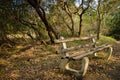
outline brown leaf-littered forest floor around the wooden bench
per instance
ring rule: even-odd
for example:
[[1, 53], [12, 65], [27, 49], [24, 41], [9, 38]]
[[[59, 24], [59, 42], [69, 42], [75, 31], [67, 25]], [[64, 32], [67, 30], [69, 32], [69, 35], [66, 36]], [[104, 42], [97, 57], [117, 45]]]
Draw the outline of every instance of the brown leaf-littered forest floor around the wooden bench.
[[[90, 59], [82, 80], [120, 80], [120, 43], [113, 45], [109, 61]], [[74, 75], [61, 72], [58, 45], [27, 44], [0, 52], [0, 80], [77, 80]]]

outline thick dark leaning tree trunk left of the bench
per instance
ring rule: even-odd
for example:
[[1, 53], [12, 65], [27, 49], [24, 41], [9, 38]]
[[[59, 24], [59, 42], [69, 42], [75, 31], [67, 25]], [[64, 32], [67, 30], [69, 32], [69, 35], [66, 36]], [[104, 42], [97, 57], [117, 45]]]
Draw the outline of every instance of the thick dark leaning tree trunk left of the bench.
[[[48, 35], [50, 37], [51, 43], [54, 43], [54, 36], [56, 39], [59, 38], [56, 31], [52, 28], [50, 23], [46, 19], [46, 14], [44, 9], [40, 6], [40, 0], [27, 0], [28, 3], [36, 10], [42, 22], [44, 23], [46, 30], [48, 31]], [[54, 35], [54, 36], [53, 36]]]

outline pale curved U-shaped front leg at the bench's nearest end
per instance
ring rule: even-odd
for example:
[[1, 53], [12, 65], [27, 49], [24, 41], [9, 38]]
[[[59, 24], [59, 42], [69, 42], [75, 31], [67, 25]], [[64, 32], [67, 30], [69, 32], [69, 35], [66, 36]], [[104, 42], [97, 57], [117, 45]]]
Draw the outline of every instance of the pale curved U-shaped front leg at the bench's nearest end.
[[65, 69], [69, 70], [71, 72], [76, 73], [77, 76], [84, 76], [87, 72], [88, 64], [89, 64], [89, 59], [88, 57], [84, 57], [82, 59], [82, 67], [80, 70], [72, 69], [69, 67], [70, 61], [65, 65]]

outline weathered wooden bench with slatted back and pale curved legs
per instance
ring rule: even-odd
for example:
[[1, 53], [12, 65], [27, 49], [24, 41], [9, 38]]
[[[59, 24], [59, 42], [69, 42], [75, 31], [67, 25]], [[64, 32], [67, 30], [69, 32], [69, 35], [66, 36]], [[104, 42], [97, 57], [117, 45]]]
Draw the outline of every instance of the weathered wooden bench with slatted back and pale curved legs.
[[[61, 60], [60, 68], [62, 70], [68, 70], [72, 73], [75, 73], [77, 76], [84, 76], [85, 73], [87, 72], [87, 68], [89, 65], [88, 55], [94, 54], [94, 56], [96, 56], [97, 52], [108, 49], [109, 52], [106, 57], [107, 57], [107, 60], [109, 60], [112, 55], [112, 51], [113, 51], [112, 45], [104, 44], [101, 46], [97, 46], [95, 37], [96, 36], [81, 37], [81, 38], [69, 38], [69, 39], [64, 39], [64, 37], [61, 37], [60, 39], [55, 40], [55, 43], [60, 43], [60, 45], [61, 45], [61, 48], [59, 50], [57, 50], [56, 53], [65, 53], [65, 56], [62, 56], [62, 58], [61, 58], [62, 60]], [[86, 40], [89, 40], [88, 44], [78, 45], [78, 46], [74, 46], [74, 47], [72, 46], [69, 48], [66, 45], [67, 42], [86, 41]], [[74, 52], [73, 54], [69, 53], [73, 50], [79, 50], [79, 49], [86, 48], [89, 46], [91, 46], [91, 48], [88, 48], [88, 50]], [[78, 60], [82, 60], [81, 61], [81, 69], [76, 70], [76, 69], [70, 68], [70, 62], [78, 61]]]

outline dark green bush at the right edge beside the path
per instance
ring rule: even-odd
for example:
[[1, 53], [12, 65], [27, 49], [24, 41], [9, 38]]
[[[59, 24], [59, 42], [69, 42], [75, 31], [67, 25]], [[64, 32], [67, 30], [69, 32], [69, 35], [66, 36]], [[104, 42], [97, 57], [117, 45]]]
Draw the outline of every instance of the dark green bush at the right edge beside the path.
[[109, 25], [109, 35], [117, 40], [120, 40], [120, 9], [112, 15]]

